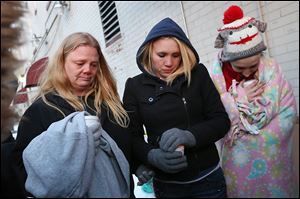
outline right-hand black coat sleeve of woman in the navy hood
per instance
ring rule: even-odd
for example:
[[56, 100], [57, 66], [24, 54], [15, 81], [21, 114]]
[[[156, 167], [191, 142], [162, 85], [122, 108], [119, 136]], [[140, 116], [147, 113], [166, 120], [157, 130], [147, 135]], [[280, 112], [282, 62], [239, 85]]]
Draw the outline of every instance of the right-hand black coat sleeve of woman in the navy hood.
[[201, 94], [206, 120], [191, 126], [188, 130], [196, 138], [196, 147], [205, 147], [223, 138], [230, 128], [230, 120], [212, 82], [208, 71], [202, 65], [200, 71]]

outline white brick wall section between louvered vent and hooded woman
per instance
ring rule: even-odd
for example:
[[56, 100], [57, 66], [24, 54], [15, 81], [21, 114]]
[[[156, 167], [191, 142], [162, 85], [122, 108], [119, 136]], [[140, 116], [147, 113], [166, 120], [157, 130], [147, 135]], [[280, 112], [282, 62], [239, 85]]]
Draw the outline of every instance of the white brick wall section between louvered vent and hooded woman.
[[150, 29], [165, 17], [171, 17], [183, 26], [183, 18], [178, 2], [118, 1], [116, 6], [122, 38], [104, 49], [117, 78], [118, 90], [122, 97], [127, 78], [141, 72], [135, 57]]

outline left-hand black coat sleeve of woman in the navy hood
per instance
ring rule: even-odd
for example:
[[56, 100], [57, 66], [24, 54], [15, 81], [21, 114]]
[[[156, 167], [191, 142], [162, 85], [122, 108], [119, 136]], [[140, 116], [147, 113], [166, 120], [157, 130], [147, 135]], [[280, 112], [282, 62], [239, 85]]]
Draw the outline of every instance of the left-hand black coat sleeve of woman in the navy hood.
[[[143, 164], [147, 164], [147, 155], [148, 152], [153, 148], [148, 145], [144, 140], [144, 129], [143, 123], [141, 121], [141, 117], [139, 116], [139, 106], [138, 101], [136, 100], [134, 90], [134, 79], [129, 78], [126, 81], [124, 95], [123, 95], [123, 104], [125, 110], [127, 111], [130, 123], [129, 130], [132, 133], [132, 149], [133, 156], [136, 162], [142, 162]], [[135, 165], [138, 166], [139, 163]]]

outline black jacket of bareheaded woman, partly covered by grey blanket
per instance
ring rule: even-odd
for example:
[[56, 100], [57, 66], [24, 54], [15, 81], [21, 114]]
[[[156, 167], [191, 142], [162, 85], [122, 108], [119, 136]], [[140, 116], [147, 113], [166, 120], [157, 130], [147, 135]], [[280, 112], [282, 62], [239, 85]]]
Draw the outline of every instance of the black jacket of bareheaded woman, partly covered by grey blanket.
[[[55, 104], [56, 107], [63, 111], [66, 116], [75, 112], [74, 108], [59, 95], [47, 94], [46, 98], [50, 103]], [[88, 98], [88, 104], [90, 107], [94, 107], [93, 97]], [[92, 115], [95, 115], [95, 113], [87, 106], [86, 111], [88, 111]], [[62, 113], [46, 105], [41, 98], [35, 101], [22, 116], [18, 128], [16, 145], [13, 151], [13, 161], [18, 172], [18, 176], [23, 183], [23, 186], [25, 185], [25, 180], [27, 177], [22, 159], [23, 150], [27, 147], [32, 139], [41, 134], [43, 131], [47, 130], [50, 124], [63, 118], [64, 116], [62, 115]], [[123, 151], [125, 157], [127, 158], [129, 164], [131, 164], [131, 134], [129, 133], [128, 129], [120, 127], [113, 118], [109, 118], [107, 114], [107, 108], [105, 106], [102, 106], [100, 121], [102, 123], [103, 129], [118, 144], [119, 148]], [[131, 195], [133, 196], [134, 184], [131, 174]]]

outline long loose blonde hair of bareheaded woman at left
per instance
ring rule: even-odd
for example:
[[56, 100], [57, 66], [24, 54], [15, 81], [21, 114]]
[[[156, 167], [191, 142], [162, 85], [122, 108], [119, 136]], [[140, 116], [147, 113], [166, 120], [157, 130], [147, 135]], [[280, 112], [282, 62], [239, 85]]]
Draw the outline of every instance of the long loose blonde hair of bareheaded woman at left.
[[69, 89], [71, 88], [71, 83], [67, 78], [64, 68], [66, 57], [70, 52], [74, 51], [79, 46], [93, 47], [97, 49], [99, 54], [99, 70], [95, 76], [94, 82], [89, 88], [89, 91], [85, 95], [85, 103], [88, 104], [88, 96], [94, 95], [94, 106], [96, 108], [95, 112], [98, 116], [101, 115], [101, 104], [104, 103], [104, 105], [111, 110], [115, 121], [120, 126], [127, 127], [129, 123], [129, 117], [120, 101], [115, 79], [113, 78], [109, 66], [101, 52], [98, 41], [89, 33], [73, 33], [64, 39], [55, 55], [49, 60], [46, 70], [41, 75], [39, 80], [40, 92], [37, 97], [41, 96], [47, 105], [57, 109], [63, 114], [61, 110], [48, 102], [45, 97], [45, 95], [49, 92], [57, 92], [75, 110], [84, 110], [84, 105], [81, 103], [78, 96], [74, 95], [72, 90]]

